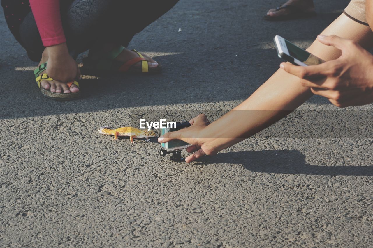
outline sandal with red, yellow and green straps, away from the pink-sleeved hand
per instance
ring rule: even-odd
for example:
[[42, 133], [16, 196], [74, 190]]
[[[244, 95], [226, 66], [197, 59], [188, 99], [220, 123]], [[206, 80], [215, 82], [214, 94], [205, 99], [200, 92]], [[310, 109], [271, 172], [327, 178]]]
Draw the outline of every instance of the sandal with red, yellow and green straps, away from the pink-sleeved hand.
[[[135, 73], [135, 74], [156, 74], [162, 71], [162, 66], [158, 64], [157, 67], [148, 67], [148, 61], [141, 53], [136, 50], [131, 50], [137, 53], [138, 58], [132, 58], [127, 62], [116, 61], [114, 60], [125, 48], [120, 46], [116, 49], [113, 49], [109, 54], [106, 55], [106, 58], [103, 60], [93, 60], [91, 58], [83, 58], [83, 67], [82, 73], [86, 75], [104, 75], [116, 73]], [[137, 62], [142, 61], [142, 66], [133, 66]]]

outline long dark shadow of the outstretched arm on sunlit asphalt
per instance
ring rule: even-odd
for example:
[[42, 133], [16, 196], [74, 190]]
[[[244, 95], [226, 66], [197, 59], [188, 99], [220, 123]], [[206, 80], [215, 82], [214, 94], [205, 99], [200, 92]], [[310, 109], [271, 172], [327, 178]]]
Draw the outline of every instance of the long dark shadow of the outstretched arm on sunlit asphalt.
[[218, 153], [205, 163], [234, 163], [260, 173], [373, 176], [373, 166], [318, 166], [305, 163], [305, 156], [298, 150], [262, 150]]

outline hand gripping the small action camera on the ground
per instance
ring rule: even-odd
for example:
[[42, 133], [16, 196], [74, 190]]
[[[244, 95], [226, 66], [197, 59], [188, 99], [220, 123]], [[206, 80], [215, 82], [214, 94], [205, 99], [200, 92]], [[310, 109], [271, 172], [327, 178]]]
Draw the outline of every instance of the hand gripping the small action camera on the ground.
[[189, 121], [192, 124], [191, 127], [183, 128], [175, 132], [168, 132], [158, 138], [159, 143], [166, 143], [173, 139], [179, 139], [186, 143], [192, 144], [186, 151], [191, 153], [195, 152], [185, 158], [185, 162], [193, 162], [204, 155], [213, 155], [218, 150], [215, 150], [210, 145], [211, 138], [204, 137], [204, 130], [210, 124], [205, 114], [200, 114], [197, 117]]

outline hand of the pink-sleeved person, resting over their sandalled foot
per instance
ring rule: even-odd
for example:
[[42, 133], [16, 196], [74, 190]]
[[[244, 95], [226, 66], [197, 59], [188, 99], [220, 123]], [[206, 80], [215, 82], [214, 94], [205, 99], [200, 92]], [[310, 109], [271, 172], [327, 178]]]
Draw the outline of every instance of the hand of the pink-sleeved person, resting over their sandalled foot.
[[66, 43], [47, 47], [47, 74], [56, 81], [67, 83], [80, 79], [80, 70], [70, 56]]

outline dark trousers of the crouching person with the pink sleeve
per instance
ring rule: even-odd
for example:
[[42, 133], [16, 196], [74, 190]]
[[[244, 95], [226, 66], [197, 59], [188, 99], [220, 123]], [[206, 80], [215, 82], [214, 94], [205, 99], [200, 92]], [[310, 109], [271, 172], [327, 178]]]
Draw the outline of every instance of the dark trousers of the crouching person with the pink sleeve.
[[[127, 47], [142, 31], [178, 0], [61, 0], [61, 19], [73, 58], [99, 42]], [[30, 12], [20, 29], [21, 44], [33, 61], [40, 61], [44, 46]]]

